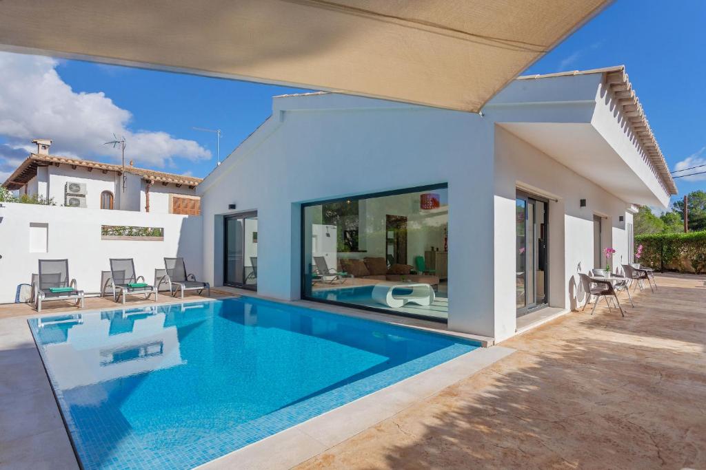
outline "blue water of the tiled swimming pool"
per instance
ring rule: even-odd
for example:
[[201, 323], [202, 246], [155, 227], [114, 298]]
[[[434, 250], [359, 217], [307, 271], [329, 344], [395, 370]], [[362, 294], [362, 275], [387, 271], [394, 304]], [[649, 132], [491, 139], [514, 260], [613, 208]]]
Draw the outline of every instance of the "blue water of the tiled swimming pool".
[[29, 324], [86, 469], [188, 469], [478, 347], [245, 297]]

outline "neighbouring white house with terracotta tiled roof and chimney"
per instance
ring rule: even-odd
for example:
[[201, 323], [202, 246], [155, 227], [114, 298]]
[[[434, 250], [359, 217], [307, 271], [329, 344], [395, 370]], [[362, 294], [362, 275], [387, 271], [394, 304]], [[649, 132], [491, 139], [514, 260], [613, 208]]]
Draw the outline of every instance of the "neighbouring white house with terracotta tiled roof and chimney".
[[199, 214], [196, 186], [201, 178], [55, 156], [49, 154], [51, 140], [32, 143], [37, 144], [37, 153], [3, 183], [8, 190], [54, 199], [59, 206]]

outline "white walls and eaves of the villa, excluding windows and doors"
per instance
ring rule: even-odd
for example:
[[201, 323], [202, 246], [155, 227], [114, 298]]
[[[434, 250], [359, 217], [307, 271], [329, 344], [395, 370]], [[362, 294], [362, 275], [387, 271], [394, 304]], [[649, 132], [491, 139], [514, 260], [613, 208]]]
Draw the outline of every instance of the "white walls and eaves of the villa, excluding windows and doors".
[[[273, 116], [199, 185], [205, 276], [222, 284], [228, 204], [237, 204], [234, 212], [258, 211], [258, 292], [298, 299], [301, 203], [448, 183], [449, 327], [503, 340], [516, 328], [521, 187], [552, 199], [549, 304], [580, 307], [585, 295], [577, 273], [594, 267], [594, 214], [604, 217], [602, 247], [617, 250], [616, 268], [630, 259], [625, 228], [634, 201], [626, 199], [668, 199], [640, 167], [640, 151], [628, 148], [629, 132], [597, 111], [611, 106], [597, 103], [599, 82], [585, 76], [513, 84], [484, 117], [336, 94], [277, 98]], [[534, 101], [518, 103], [532, 87]], [[604, 166], [613, 173], [606, 176]], [[621, 178], [626, 189], [616, 183]]]

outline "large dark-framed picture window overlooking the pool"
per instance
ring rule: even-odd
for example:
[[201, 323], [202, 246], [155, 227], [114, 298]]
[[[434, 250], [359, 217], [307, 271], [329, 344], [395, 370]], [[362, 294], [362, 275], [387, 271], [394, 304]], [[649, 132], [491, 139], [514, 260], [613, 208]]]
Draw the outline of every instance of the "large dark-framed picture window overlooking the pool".
[[308, 299], [448, 318], [445, 185], [305, 204]]

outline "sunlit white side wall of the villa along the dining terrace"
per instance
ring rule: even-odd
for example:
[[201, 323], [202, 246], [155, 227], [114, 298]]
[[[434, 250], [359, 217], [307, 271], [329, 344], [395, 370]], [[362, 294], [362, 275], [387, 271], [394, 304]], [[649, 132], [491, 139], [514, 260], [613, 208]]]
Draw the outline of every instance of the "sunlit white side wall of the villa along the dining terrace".
[[[517, 187], [556, 199], [549, 202], [549, 306], [562, 309], [576, 309], [585, 301], [578, 272], [594, 268], [594, 214], [605, 217], [602, 247], [617, 250], [613, 268], [627, 262], [625, 221], [619, 218], [630, 215], [630, 204], [499, 127], [495, 155], [496, 340], [501, 340], [515, 333]], [[580, 207], [580, 199], [586, 199], [586, 207]]]

